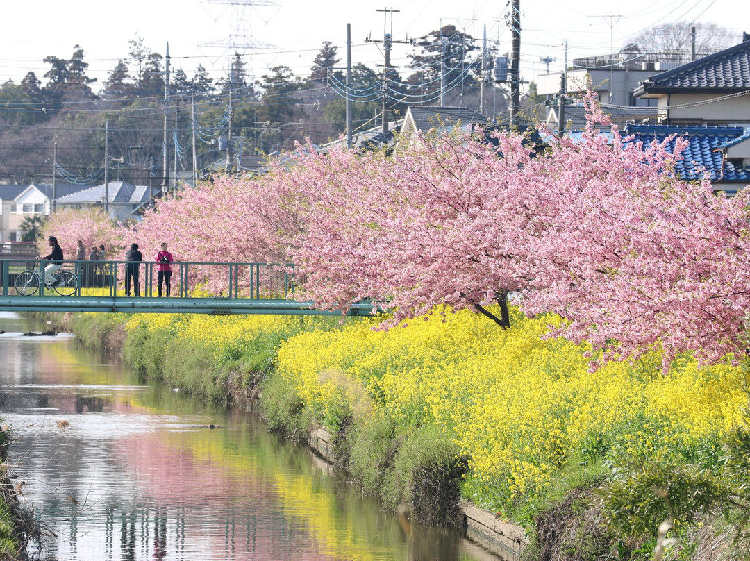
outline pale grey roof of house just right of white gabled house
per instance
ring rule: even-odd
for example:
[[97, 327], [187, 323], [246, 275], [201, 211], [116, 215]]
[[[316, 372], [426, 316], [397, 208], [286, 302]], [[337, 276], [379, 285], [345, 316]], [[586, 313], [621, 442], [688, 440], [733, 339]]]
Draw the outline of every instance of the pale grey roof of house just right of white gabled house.
[[[155, 188], [154, 188], [155, 189]], [[109, 181], [106, 185], [95, 185], [60, 196], [56, 199], [58, 210], [62, 208], [104, 208], [104, 200], [107, 199], [107, 207], [113, 220], [132, 220], [137, 217], [136, 212], [142, 205], [148, 204], [158, 193], [149, 192], [147, 185], [133, 185], [127, 181]]]

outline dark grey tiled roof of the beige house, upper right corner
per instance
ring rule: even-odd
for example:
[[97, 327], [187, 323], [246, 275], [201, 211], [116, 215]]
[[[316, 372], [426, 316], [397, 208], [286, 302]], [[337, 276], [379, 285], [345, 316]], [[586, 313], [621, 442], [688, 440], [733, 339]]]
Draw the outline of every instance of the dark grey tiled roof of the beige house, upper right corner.
[[750, 40], [643, 80], [634, 95], [750, 89]]

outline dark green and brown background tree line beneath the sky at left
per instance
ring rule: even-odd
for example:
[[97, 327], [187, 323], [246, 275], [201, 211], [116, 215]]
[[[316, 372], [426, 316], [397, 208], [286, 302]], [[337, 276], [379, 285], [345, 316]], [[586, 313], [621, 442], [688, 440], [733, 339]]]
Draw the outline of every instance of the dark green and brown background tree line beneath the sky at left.
[[[473, 37], [448, 25], [421, 37], [414, 49], [416, 70], [407, 77], [395, 68], [384, 79], [382, 68], [353, 67], [356, 129], [380, 124], [384, 89], [391, 119], [404, 115], [409, 104], [437, 105], [441, 55], [449, 84], [444, 104], [478, 110], [481, 61]], [[110, 180], [144, 184], [162, 175], [166, 61], [161, 53], [136, 36], [101, 84], [87, 75], [89, 64], [80, 45], [68, 58], [50, 55], [43, 62], [49, 65], [43, 76], [28, 72], [20, 83], [9, 80], [0, 86], [0, 181], [49, 183], [55, 162], [60, 182], [95, 177], [104, 166], [107, 121]], [[192, 76], [183, 68], [169, 70], [167, 143], [174, 154], [176, 140], [178, 170], [192, 169], [193, 111], [199, 169], [223, 155], [217, 139], [227, 135], [230, 121], [233, 151], [242, 154], [271, 154], [307, 138], [323, 143], [344, 133], [345, 69], [338, 47], [329, 41], [306, 77], [276, 66], [254, 79], [239, 52], [219, 80], [202, 65]], [[500, 97], [502, 113], [507, 103], [504, 94]]]

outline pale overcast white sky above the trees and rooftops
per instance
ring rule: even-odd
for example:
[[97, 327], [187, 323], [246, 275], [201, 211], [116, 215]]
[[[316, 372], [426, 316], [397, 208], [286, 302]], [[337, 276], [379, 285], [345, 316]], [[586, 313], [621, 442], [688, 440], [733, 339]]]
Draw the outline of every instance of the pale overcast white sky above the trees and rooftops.
[[[383, 64], [385, 31], [394, 40], [420, 37], [454, 23], [460, 30], [497, 43], [500, 53], [511, 49], [506, 23], [509, 2], [503, 0], [395, 0], [383, 5], [370, 0], [35, 0], [3, 2], [0, 34], [0, 80], [18, 83], [28, 71], [43, 80], [48, 55], [70, 58], [80, 44], [89, 62], [95, 91], [127, 58], [130, 40], [142, 37], [148, 48], [164, 54], [169, 43], [172, 68], [192, 77], [203, 65], [211, 77], [225, 77], [235, 51], [257, 78], [268, 68], [287, 65], [296, 76], [310, 74], [323, 41], [338, 46], [341, 65], [346, 55], [347, 23], [352, 26], [353, 63], [377, 68]], [[521, 72], [533, 80], [544, 72], [542, 57], [555, 58], [550, 71], [562, 68], [562, 43], [568, 60], [606, 54], [653, 25], [676, 20], [718, 23], [740, 37], [750, 2], [740, 0], [631, 0], [617, 4], [590, 0], [520, 0]], [[398, 10], [386, 13], [383, 10]], [[378, 11], [380, 10], [380, 11]], [[373, 41], [368, 42], [367, 37]], [[410, 74], [407, 55], [413, 47], [395, 44], [392, 64]]]

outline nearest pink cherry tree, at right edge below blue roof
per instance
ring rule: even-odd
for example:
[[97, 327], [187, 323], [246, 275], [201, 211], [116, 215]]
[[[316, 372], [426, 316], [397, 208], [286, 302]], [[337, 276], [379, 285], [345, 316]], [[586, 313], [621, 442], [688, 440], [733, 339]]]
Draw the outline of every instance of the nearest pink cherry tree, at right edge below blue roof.
[[589, 100], [583, 142], [555, 141], [529, 172], [550, 196], [535, 210], [535, 278], [523, 290], [527, 314], [552, 311], [559, 330], [610, 356], [637, 356], [660, 344], [664, 366], [691, 350], [706, 361], [744, 348], [748, 309], [745, 196], [715, 195], [708, 180], [676, 178], [687, 146], [676, 139], [613, 140], [594, 127], [607, 119]]

